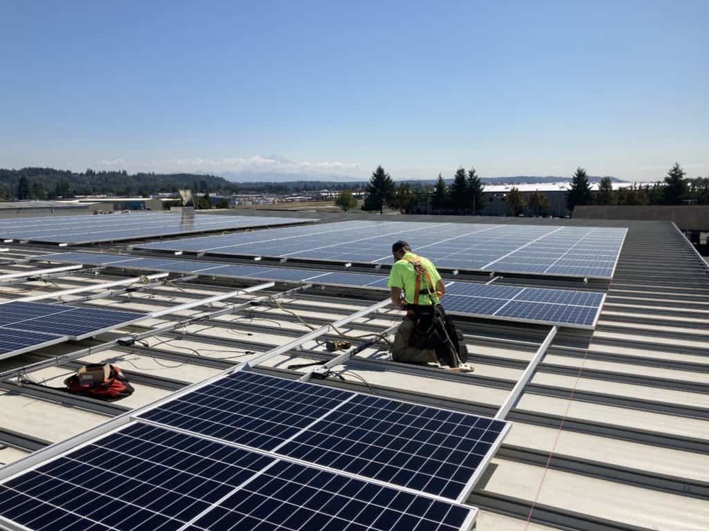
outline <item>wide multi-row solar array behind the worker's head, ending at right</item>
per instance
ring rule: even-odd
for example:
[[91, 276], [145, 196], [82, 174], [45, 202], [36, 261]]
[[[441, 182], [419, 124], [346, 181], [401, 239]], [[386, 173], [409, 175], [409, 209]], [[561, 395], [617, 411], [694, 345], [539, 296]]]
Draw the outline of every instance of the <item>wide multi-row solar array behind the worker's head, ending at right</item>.
[[340, 222], [141, 244], [140, 249], [391, 264], [403, 239], [438, 268], [612, 278], [627, 229]]

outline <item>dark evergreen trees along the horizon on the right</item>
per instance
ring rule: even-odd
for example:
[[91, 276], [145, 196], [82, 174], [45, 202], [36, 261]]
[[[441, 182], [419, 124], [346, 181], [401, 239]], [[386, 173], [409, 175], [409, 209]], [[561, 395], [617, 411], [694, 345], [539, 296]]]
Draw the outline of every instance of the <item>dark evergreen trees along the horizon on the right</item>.
[[[579, 205], [709, 205], [709, 178], [688, 179], [678, 163], [669, 169], [663, 181], [652, 185], [631, 185], [613, 189], [610, 177], [603, 177], [598, 190], [591, 189], [584, 168], [576, 169], [566, 192], [566, 207], [572, 212]], [[483, 199], [484, 184], [474, 168], [466, 171], [459, 168], [450, 185], [439, 173], [435, 185], [412, 188], [411, 183], [393, 181], [382, 166], [377, 166], [366, 188], [362, 210], [384, 212], [384, 208], [411, 212], [414, 205], [425, 205], [435, 213], [457, 215], [481, 214], [486, 206]], [[517, 216], [525, 210], [533, 215], [545, 215], [549, 210], [549, 198], [543, 192], [532, 192], [526, 199], [519, 188], [513, 186], [505, 195], [507, 213]], [[343, 210], [356, 206], [350, 191], [345, 190], [337, 198]]]

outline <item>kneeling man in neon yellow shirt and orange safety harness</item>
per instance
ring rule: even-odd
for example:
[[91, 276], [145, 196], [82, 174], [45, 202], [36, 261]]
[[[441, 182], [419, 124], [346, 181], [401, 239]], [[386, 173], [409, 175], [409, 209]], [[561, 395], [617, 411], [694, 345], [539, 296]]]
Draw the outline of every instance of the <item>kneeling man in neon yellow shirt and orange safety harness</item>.
[[412, 253], [406, 241], [397, 241], [391, 252], [391, 302], [406, 310], [391, 344], [391, 358], [418, 364], [440, 362], [448, 369], [470, 371], [465, 364], [467, 349], [462, 334], [440, 305], [445, 285], [435, 265]]

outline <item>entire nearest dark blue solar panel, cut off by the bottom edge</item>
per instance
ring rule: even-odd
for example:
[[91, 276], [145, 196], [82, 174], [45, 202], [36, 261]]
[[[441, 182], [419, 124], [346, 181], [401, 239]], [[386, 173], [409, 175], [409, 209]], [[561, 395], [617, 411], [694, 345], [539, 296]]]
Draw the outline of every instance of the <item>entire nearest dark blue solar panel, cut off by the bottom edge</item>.
[[462, 531], [475, 513], [141, 423], [0, 484], [0, 524], [37, 531]]

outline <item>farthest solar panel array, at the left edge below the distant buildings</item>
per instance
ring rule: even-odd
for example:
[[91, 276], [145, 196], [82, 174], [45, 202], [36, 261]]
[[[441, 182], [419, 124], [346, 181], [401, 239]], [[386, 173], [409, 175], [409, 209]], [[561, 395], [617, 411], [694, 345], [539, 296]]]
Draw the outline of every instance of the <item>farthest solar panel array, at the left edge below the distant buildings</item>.
[[0, 239], [52, 244], [94, 244], [249, 227], [301, 224], [316, 219], [140, 212], [101, 216], [48, 216], [0, 220]]

